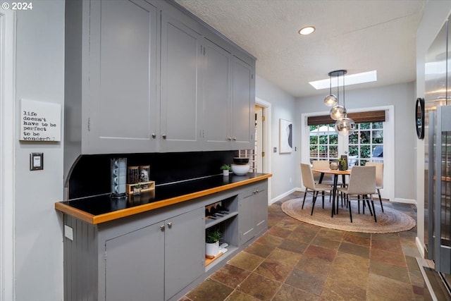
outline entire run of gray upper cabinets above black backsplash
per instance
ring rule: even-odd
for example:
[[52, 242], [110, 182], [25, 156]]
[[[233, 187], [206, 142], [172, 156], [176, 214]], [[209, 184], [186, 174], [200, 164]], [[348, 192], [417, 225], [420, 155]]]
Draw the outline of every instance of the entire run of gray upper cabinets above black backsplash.
[[255, 59], [177, 4], [66, 1], [65, 30], [66, 175], [80, 154], [252, 148]]

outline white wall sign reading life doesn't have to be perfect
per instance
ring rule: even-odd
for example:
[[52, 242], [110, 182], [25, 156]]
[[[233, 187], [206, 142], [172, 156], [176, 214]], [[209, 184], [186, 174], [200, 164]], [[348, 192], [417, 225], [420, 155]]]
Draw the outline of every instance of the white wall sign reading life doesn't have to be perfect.
[[61, 104], [21, 99], [20, 140], [61, 141]]

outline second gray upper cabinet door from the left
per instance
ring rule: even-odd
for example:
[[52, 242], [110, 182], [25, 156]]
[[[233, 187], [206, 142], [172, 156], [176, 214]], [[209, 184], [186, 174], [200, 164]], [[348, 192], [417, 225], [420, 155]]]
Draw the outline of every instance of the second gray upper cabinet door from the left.
[[161, 15], [161, 140], [163, 152], [201, 149], [200, 35]]

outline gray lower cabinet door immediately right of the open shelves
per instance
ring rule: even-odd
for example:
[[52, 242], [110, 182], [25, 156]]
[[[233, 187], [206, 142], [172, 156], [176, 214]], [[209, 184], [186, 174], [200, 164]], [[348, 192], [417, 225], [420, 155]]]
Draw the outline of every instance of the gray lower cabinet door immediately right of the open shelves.
[[240, 232], [240, 245], [255, 235], [254, 192], [248, 190], [240, 195], [238, 213], [238, 228]]

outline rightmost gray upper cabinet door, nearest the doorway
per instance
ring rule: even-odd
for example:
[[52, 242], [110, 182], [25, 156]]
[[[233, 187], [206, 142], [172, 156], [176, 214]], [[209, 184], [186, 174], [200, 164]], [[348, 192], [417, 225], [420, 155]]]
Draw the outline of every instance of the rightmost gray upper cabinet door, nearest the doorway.
[[255, 131], [255, 80], [252, 67], [233, 56], [232, 149], [252, 149]]

